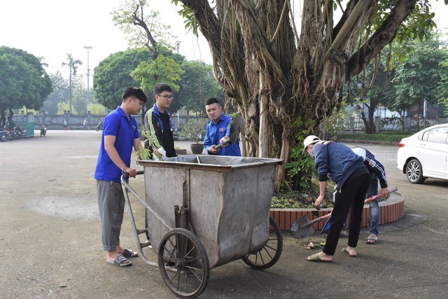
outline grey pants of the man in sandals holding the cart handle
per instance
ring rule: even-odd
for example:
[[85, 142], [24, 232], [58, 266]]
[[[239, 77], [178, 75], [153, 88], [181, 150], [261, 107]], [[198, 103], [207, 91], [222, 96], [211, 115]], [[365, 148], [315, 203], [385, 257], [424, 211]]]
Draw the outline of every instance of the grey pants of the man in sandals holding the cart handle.
[[125, 195], [120, 183], [97, 180], [97, 197], [103, 250], [115, 251], [125, 213]]

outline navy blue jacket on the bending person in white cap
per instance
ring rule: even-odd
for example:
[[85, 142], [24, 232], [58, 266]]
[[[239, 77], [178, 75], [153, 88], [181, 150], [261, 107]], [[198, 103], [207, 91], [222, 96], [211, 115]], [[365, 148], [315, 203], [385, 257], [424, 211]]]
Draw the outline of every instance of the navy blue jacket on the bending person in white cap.
[[356, 169], [365, 167], [363, 157], [356, 155], [348, 146], [339, 142], [319, 141], [314, 144], [312, 153], [318, 180], [330, 179], [337, 184], [339, 190]]

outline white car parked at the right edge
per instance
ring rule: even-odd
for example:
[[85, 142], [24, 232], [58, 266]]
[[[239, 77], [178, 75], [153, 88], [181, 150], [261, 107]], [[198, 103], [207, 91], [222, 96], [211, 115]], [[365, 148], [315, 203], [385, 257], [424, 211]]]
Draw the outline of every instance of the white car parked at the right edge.
[[433, 125], [403, 138], [397, 167], [411, 183], [427, 178], [448, 180], [448, 124]]

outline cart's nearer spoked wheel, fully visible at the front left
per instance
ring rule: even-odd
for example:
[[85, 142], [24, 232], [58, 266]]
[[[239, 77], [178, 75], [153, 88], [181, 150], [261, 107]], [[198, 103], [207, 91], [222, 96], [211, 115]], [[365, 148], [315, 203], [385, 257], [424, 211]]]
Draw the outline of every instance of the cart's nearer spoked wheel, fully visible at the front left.
[[200, 239], [185, 228], [174, 228], [160, 242], [160, 274], [181, 298], [196, 298], [209, 282], [209, 258]]

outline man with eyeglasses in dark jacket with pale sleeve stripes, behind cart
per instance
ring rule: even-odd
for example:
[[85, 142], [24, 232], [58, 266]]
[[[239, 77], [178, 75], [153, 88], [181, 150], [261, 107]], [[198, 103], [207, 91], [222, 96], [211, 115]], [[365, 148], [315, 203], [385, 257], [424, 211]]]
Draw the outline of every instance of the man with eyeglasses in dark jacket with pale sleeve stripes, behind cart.
[[[145, 128], [148, 131], [148, 138], [151, 138], [152, 143], [149, 145], [151, 153], [158, 151], [162, 160], [167, 157], [176, 157], [176, 150], [174, 149], [173, 126], [169, 112], [169, 108], [173, 100], [173, 92], [171, 87], [165, 83], [158, 83], [154, 86], [155, 104], [153, 108], [146, 112]], [[155, 160], [158, 160], [157, 155], [153, 155]]]

